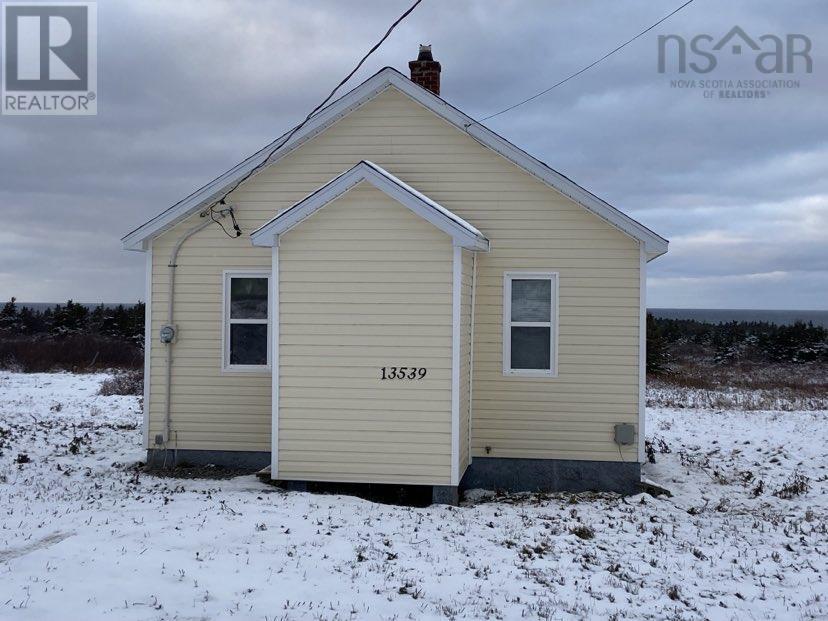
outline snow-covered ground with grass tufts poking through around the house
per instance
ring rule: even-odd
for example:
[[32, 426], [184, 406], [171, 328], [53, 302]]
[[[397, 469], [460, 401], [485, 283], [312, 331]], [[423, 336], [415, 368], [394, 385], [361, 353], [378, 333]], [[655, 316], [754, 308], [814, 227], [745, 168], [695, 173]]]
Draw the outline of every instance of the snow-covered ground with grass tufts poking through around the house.
[[104, 377], [0, 373], [0, 619], [828, 617], [825, 411], [650, 410], [669, 499], [408, 508], [135, 474]]

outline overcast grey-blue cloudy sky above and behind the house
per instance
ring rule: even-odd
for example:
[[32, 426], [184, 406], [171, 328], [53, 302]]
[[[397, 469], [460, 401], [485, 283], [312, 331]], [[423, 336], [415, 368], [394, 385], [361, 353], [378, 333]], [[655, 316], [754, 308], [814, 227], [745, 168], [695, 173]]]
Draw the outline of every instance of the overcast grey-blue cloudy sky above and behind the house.
[[[298, 122], [408, 4], [100, 0], [98, 115], [0, 117], [0, 298], [142, 298], [143, 255], [120, 237]], [[385, 65], [407, 74], [429, 42], [442, 95], [483, 117], [679, 4], [424, 0], [349, 87]], [[658, 72], [659, 34], [718, 40], [734, 25], [807, 35], [813, 73], [798, 62], [770, 76], [798, 88], [754, 100], [671, 88], [767, 78], [744, 44], [704, 76]], [[696, 0], [487, 124], [670, 239], [649, 306], [828, 309], [826, 35], [824, 0]]]

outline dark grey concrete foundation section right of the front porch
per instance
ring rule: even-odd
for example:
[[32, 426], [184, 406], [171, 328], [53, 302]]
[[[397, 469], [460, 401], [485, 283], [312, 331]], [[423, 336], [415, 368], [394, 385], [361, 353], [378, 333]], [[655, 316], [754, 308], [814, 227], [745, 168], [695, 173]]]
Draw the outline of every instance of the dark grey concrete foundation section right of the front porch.
[[635, 494], [641, 491], [640, 482], [637, 462], [475, 457], [460, 488]]

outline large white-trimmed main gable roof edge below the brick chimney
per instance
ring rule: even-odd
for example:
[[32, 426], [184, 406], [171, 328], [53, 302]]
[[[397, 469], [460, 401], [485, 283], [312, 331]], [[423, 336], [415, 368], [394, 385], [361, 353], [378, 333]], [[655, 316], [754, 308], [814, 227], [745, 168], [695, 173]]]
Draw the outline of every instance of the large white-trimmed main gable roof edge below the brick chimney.
[[[391, 67], [381, 69], [362, 84], [317, 112], [302, 129], [291, 136], [274, 153], [268, 155], [273, 148], [272, 145], [283, 140], [290, 132], [286, 132], [270, 145], [251, 155], [243, 162], [237, 164], [204, 187], [196, 190], [152, 220], [128, 233], [121, 239], [124, 248], [127, 250], [144, 250], [148, 240], [175, 226], [184, 218], [218, 201], [234, 183], [244, 178], [251, 170], [261, 166], [266, 161], [270, 164], [279, 161], [311, 138], [325, 131], [325, 129], [343, 116], [367, 101], [370, 101], [391, 86], [402, 91], [411, 99], [428, 108], [434, 114], [454, 125], [459, 130], [465, 132], [480, 144], [505, 157], [507, 160], [537, 177], [543, 183], [554, 188], [561, 194], [569, 197], [615, 228], [626, 233], [633, 239], [642, 242], [648, 260], [667, 252], [668, 242], [666, 239], [585, 190], [568, 177], [553, 170], [540, 160], [535, 159], [492, 130], [477, 123], [474, 119], [444, 99], [436, 96], [431, 91], [414, 84], [414, 82]], [[262, 169], [264, 169], [264, 166], [262, 166]]]

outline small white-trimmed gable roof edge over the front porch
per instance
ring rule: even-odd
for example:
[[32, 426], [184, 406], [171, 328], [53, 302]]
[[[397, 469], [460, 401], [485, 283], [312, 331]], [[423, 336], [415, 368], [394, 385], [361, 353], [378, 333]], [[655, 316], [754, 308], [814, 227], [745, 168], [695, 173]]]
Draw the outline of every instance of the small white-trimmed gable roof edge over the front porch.
[[276, 235], [287, 233], [294, 226], [363, 181], [370, 183], [450, 235], [456, 245], [469, 250], [487, 251], [489, 249], [489, 240], [463, 218], [418, 192], [382, 167], [366, 160], [362, 160], [353, 168], [334, 177], [267, 224], [260, 226], [250, 234], [250, 240], [254, 246], [273, 246]]

